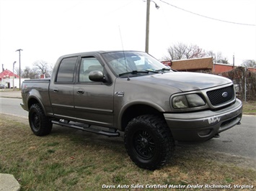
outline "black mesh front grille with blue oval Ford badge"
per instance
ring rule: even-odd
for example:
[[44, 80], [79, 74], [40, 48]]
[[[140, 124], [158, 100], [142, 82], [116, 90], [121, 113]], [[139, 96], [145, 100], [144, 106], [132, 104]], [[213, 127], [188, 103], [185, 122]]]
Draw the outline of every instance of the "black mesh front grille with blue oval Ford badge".
[[213, 106], [226, 103], [234, 99], [234, 88], [233, 85], [217, 90], [208, 91], [207, 96]]

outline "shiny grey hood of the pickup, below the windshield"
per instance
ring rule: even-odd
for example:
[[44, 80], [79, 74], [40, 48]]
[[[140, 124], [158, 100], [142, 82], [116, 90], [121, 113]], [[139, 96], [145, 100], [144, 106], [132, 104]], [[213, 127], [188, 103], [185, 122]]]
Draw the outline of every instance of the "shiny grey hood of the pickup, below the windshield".
[[180, 89], [181, 91], [203, 90], [206, 88], [213, 88], [232, 82], [228, 78], [224, 78], [218, 75], [188, 72], [144, 75], [136, 79], [142, 80], [145, 83], [149, 82], [159, 85], [170, 85]]

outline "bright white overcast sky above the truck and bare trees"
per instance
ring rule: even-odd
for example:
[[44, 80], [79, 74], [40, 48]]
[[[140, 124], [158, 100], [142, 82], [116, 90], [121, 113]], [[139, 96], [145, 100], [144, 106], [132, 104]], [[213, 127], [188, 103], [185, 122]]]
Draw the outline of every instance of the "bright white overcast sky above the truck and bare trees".
[[[24, 69], [76, 52], [144, 51], [145, 36], [143, 0], [0, 0], [0, 64], [8, 70], [19, 65], [18, 49]], [[230, 63], [234, 55], [235, 65], [256, 60], [256, 1], [151, 1], [149, 54], [161, 60], [178, 42]]]

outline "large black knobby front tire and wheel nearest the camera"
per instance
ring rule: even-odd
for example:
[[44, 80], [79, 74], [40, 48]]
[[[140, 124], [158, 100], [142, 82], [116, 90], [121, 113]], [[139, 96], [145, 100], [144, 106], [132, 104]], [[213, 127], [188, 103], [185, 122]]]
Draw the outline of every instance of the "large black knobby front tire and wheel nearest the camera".
[[126, 126], [124, 142], [129, 157], [143, 169], [159, 169], [175, 150], [171, 131], [161, 116], [133, 118]]

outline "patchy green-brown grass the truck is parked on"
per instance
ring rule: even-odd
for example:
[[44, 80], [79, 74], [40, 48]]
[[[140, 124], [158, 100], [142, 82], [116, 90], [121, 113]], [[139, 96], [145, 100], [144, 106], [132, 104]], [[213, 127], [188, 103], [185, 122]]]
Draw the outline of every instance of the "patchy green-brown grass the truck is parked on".
[[14, 174], [22, 190], [101, 190], [107, 186], [136, 190], [131, 185], [158, 184], [256, 186], [256, 170], [240, 165], [244, 159], [234, 156], [180, 149], [162, 169], [149, 171], [131, 162], [122, 137], [56, 126], [50, 135], [38, 137], [25, 122], [2, 114], [0, 134], [0, 172]]

